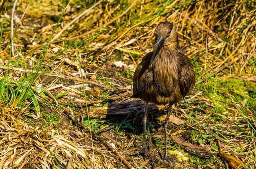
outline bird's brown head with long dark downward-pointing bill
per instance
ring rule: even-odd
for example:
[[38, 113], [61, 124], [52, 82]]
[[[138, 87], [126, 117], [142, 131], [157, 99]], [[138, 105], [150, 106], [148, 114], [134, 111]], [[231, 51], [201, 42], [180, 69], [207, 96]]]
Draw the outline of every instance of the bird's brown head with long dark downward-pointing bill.
[[154, 60], [157, 53], [159, 53], [160, 49], [163, 46], [166, 46], [167, 48], [170, 48], [173, 50], [178, 50], [178, 36], [175, 29], [175, 26], [168, 22], [162, 22], [157, 25], [157, 28], [155, 30], [155, 37], [156, 37], [156, 46], [154, 48], [153, 56], [151, 58], [151, 63]]

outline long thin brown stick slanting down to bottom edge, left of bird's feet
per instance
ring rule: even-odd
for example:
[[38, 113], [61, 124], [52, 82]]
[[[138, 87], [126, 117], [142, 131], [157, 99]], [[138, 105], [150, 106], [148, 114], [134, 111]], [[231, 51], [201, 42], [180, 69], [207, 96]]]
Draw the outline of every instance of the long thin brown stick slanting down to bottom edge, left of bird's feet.
[[[90, 130], [84, 126], [84, 124], [82, 124], [80, 121], [78, 121], [74, 116], [71, 115], [70, 112], [68, 112], [67, 110], [63, 111], [64, 114], [66, 114], [68, 116], [68, 118], [70, 118], [73, 122], [75, 122], [78, 127], [80, 129], [85, 130], [87, 133], [90, 132]], [[96, 139], [97, 141], [100, 141], [105, 147], [107, 147], [107, 149], [109, 149], [109, 151], [111, 151], [112, 153], [114, 153], [116, 156], [119, 157], [119, 159], [126, 165], [128, 166], [128, 168], [132, 169], [133, 166], [121, 155], [118, 153], [118, 151], [116, 151], [110, 144], [108, 144], [106, 141], [104, 141], [102, 138], [100, 138], [97, 134], [95, 134], [94, 132], [91, 132], [91, 135], [93, 136], [94, 139]]]

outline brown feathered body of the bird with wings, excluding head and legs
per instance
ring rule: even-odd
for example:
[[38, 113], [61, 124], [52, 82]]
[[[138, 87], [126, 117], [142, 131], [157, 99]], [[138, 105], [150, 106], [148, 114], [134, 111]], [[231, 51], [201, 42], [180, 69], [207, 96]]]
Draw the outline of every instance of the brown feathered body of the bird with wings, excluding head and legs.
[[188, 57], [179, 49], [163, 47], [152, 63], [153, 52], [144, 56], [134, 72], [133, 97], [157, 104], [176, 103], [191, 91], [195, 73]]

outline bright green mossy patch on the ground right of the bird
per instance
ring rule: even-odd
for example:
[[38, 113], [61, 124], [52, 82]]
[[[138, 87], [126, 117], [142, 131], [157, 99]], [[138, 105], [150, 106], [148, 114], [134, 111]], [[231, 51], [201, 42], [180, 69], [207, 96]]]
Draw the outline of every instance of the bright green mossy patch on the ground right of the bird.
[[227, 107], [236, 107], [240, 103], [245, 104], [251, 111], [256, 109], [256, 91], [248, 81], [235, 78], [221, 81], [219, 78], [210, 78], [207, 86], [201, 83], [197, 87], [209, 96], [218, 114], [230, 111]]

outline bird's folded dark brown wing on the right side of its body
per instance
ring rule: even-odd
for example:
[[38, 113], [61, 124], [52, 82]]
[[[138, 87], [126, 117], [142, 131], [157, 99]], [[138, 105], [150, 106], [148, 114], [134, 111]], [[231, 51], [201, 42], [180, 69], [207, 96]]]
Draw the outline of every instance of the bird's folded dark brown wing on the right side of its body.
[[195, 85], [195, 72], [193, 66], [189, 61], [189, 58], [183, 53], [179, 53], [179, 63], [180, 63], [180, 93], [183, 98], [189, 93]]

